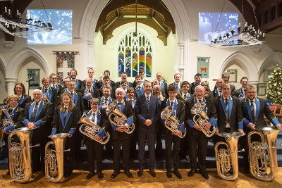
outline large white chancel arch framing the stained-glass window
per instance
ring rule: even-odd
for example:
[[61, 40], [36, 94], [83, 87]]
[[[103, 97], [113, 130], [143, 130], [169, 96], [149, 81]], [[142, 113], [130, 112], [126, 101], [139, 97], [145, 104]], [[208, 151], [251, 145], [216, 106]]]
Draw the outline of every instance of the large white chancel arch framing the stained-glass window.
[[[86, 73], [89, 67], [96, 67], [93, 58], [94, 32], [99, 15], [107, 2], [108, 0], [90, 0], [82, 15], [78, 32], [82, 39], [82, 53], [80, 56], [83, 68], [82, 73]], [[164, 3], [171, 12], [178, 33], [178, 46], [180, 48], [178, 70], [180, 72], [182, 71], [183, 78], [188, 80], [188, 75], [191, 76], [192, 73], [190, 70], [190, 59], [188, 58], [190, 54], [189, 41], [191, 36], [190, 27], [188, 27], [188, 25], [190, 25], [188, 13], [181, 0], [164, 0]]]

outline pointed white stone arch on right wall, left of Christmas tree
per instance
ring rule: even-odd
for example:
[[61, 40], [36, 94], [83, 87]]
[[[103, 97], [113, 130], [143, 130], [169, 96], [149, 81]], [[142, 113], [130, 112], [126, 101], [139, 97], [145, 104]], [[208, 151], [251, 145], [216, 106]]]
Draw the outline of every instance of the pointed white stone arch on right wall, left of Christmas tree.
[[225, 70], [231, 61], [235, 61], [240, 65], [243, 70], [245, 70], [245, 75], [248, 77], [249, 82], [258, 82], [259, 78], [257, 76], [257, 67], [252, 60], [241, 51], [235, 51], [233, 54], [228, 56], [223, 63], [221, 63], [221, 68], [218, 71], [218, 77], [221, 77], [223, 70]]

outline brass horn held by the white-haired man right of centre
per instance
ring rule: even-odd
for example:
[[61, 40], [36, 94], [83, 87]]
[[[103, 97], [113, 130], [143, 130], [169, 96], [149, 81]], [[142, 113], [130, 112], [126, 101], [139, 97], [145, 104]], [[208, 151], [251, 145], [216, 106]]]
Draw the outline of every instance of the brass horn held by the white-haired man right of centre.
[[[191, 113], [195, 114], [193, 117], [194, 123], [203, 128], [204, 128], [204, 124], [209, 122], [209, 117], [207, 117], [207, 113], [204, 112], [204, 106], [205, 106], [204, 102], [197, 102], [197, 104], [195, 104], [191, 108]], [[207, 108], [206, 108], [206, 111], [207, 111]], [[202, 129], [202, 132], [204, 133], [204, 135], [206, 135], [206, 137], [212, 137], [212, 135], [214, 135], [214, 132], [216, 132], [216, 127], [213, 127], [212, 131], [211, 130], [206, 131]]]

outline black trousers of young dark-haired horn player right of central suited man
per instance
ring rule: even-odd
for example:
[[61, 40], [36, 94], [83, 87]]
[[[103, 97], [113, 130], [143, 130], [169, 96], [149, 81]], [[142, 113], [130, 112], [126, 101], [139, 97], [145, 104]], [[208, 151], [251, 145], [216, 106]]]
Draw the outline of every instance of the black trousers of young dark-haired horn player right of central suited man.
[[166, 140], [166, 170], [171, 170], [171, 148], [173, 143], [173, 168], [178, 170], [179, 168], [179, 146], [180, 137], [168, 132], [165, 137]]

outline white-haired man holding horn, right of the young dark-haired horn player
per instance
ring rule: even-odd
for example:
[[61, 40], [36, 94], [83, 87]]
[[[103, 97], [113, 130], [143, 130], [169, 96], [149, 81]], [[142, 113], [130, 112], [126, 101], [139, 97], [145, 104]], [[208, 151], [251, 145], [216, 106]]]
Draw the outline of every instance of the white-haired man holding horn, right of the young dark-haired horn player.
[[[202, 125], [203, 127], [194, 123], [194, 114], [191, 113], [192, 107], [198, 102], [204, 105], [204, 111], [207, 110], [207, 117], [209, 118], [209, 121]], [[195, 87], [195, 97], [189, 99], [185, 107], [185, 118], [188, 122], [188, 125], [190, 125], [188, 136], [190, 137], [189, 156], [191, 162], [191, 170], [188, 173], [188, 176], [191, 177], [195, 175], [195, 173], [197, 173], [198, 156], [200, 173], [202, 177], [209, 179], [209, 175], [207, 175], [206, 171], [207, 142], [209, 140], [209, 137], [206, 137], [202, 130], [207, 131], [212, 126], [216, 125], [216, 108], [214, 107], [211, 99], [204, 97], [204, 87], [202, 87], [201, 85]]]

